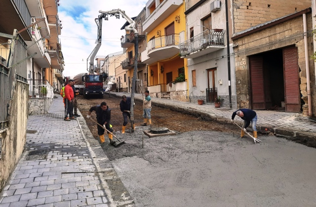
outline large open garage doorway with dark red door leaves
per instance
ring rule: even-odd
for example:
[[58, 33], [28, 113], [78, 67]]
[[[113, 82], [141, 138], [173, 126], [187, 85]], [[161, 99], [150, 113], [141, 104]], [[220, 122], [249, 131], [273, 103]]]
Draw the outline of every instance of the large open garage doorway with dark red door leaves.
[[300, 112], [297, 48], [249, 56], [252, 109]]

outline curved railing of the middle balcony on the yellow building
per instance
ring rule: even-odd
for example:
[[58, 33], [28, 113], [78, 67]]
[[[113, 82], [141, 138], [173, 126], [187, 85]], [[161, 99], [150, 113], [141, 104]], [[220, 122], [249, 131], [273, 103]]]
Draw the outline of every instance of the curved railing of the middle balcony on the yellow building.
[[148, 51], [156, 48], [178, 45], [180, 42], [179, 34], [163, 35], [155, 37], [148, 41]]

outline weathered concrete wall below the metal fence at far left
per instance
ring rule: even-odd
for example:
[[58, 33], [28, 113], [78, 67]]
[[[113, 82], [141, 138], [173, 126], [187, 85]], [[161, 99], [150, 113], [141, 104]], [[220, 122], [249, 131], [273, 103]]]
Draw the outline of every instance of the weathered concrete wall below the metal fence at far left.
[[9, 126], [0, 131], [2, 142], [0, 158], [0, 189], [19, 162], [26, 143], [29, 85], [17, 81], [9, 107]]

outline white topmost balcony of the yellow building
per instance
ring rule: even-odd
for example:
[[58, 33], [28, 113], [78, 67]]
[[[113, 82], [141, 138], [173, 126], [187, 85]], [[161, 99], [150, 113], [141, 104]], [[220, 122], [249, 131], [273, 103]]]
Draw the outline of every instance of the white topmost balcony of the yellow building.
[[143, 31], [150, 32], [156, 28], [166, 17], [170, 16], [180, 5], [183, 0], [163, 0], [156, 9], [151, 13], [150, 8], [156, 3], [155, 0], [149, 0], [146, 3], [147, 19], [143, 22]]

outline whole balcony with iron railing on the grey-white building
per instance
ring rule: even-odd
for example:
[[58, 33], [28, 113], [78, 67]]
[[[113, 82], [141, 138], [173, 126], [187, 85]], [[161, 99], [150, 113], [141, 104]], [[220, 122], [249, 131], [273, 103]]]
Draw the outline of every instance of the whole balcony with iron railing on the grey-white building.
[[224, 31], [221, 29], [205, 30], [191, 37], [180, 45], [181, 58], [196, 58], [225, 47]]

